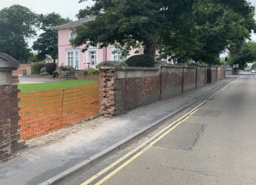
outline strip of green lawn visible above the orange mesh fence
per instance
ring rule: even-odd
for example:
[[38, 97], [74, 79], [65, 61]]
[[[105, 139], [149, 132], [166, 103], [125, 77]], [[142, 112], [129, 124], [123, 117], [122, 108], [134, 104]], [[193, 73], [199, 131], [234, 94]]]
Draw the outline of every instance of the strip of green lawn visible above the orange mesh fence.
[[21, 90], [21, 93], [24, 93], [66, 87], [79, 87], [93, 82], [96, 82], [96, 80], [62, 80], [58, 82], [18, 84], [18, 88]]

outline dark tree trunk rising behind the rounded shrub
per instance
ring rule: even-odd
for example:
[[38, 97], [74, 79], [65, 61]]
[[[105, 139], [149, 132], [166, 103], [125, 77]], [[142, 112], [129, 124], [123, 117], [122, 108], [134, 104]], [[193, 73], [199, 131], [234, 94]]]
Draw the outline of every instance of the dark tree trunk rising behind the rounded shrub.
[[156, 41], [159, 28], [152, 31], [152, 39], [145, 42], [144, 54], [149, 54], [152, 57], [156, 57]]

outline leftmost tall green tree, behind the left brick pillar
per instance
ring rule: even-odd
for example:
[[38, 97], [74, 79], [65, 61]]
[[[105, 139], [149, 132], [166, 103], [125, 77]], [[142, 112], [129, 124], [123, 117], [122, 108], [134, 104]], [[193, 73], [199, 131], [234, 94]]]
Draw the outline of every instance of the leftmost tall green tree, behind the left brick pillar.
[[0, 52], [21, 63], [32, 55], [27, 39], [36, 35], [37, 15], [24, 6], [13, 5], [0, 10]]

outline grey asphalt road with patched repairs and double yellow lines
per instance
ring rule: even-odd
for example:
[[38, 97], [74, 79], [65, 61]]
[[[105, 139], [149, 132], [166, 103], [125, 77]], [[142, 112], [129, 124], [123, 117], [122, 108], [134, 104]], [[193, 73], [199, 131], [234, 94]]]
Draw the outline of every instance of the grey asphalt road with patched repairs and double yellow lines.
[[[187, 115], [62, 184], [256, 184], [255, 93], [256, 76], [240, 76]], [[156, 135], [166, 127], [168, 133]]]

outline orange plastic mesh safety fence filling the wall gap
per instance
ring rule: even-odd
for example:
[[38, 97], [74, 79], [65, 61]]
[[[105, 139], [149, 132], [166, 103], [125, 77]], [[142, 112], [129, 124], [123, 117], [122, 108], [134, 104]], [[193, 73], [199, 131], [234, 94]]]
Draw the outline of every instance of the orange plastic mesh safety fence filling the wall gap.
[[99, 112], [99, 83], [67, 89], [19, 93], [21, 139], [76, 124]]

